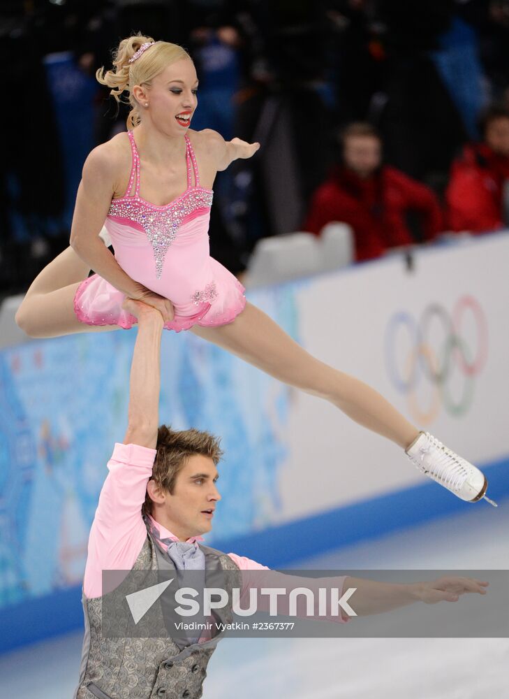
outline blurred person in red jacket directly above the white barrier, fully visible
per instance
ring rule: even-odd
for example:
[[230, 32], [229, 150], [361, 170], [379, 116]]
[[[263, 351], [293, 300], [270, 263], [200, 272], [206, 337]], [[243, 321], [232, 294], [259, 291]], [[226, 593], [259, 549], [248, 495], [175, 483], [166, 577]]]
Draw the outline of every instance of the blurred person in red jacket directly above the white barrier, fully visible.
[[[425, 185], [382, 164], [382, 143], [369, 124], [355, 122], [341, 138], [343, 163], [335, 166], [311, 198], [304, 229], [350, 224], [357, 260], [379, 257], [390, 247], [431, 240], [442, 229], [436, 196]], [[418, 235], [408, 225], [414, 214]], [[417, 239], [418, 238], [418, 239]]]

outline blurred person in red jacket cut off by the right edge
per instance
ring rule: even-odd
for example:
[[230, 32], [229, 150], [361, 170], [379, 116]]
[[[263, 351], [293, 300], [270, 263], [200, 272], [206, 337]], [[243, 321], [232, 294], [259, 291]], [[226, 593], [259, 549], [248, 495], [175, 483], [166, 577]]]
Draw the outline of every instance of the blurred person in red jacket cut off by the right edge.
[[451, 168], [445, 200], [452, 231], [483, 233], [507, 224], [504, 183], [509, 178], [509, 113], [489, 109], [481, 121], [482, 143], [464, 147]]

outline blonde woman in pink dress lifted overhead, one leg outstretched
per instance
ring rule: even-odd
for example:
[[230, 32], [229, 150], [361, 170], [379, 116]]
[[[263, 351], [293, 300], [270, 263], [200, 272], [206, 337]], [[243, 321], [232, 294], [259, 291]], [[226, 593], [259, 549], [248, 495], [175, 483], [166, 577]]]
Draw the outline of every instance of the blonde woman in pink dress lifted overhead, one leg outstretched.
[[[208, 223], [217, 171], [249, 158], [258, 143], [191, 131], [198, 79], [180, 46], [145, 36], [119, 44], [114, 69], [98, 71], [117, 101], [128, 92], [128, 133], [84, 163], [71, 247], [31, 284], [16, 322], [32, 337], [130, 328], [125, 298], [157, 308], [165, 327], [228, 349], [277, 379], [337, 405], [403, 447], [411, 461], [459, 498], [485, 496], [471, 463], [419, 432], [374, 389], [314, 359], [244, 297], [240, 282], [209, 257]], [[109, 240], [101, 240], [103, 224]], [[104, 238], [103, 233], [103, 238]], [[107, 236], [106, 236], [107, 237]], [[105, 245], [106, 243], [106, 245]], [[89, 270], [96, 274], [88, 278]]]

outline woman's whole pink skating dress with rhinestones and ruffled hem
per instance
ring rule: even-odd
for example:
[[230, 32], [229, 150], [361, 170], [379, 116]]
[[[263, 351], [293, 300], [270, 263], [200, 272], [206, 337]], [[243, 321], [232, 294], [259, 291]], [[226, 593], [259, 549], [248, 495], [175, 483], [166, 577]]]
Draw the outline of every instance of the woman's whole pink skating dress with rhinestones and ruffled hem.
[[[115, 258], [131, 279], [169, 298], [175, 318], [168, 330], [188, 330], [194, 324], [230, 323], [244, 309], [244, 287], [209, 254], [212, 189], [200, 187], [191, 141], [186, 139], [187, 189], [165, 206], [140, 196], [140, 157], [128, 131], [133, 166], [126, 193], [112, 199], [105, 228]], [[194, 175], [194, 185], [192, 183]], [[135, 191], [131, 189], [135, 182]], [[97, 274], [84, 280], [74, 297], [75, 313], [89, 325], [131, 328], [137, 321], [121, 308], [124, 294]]]

